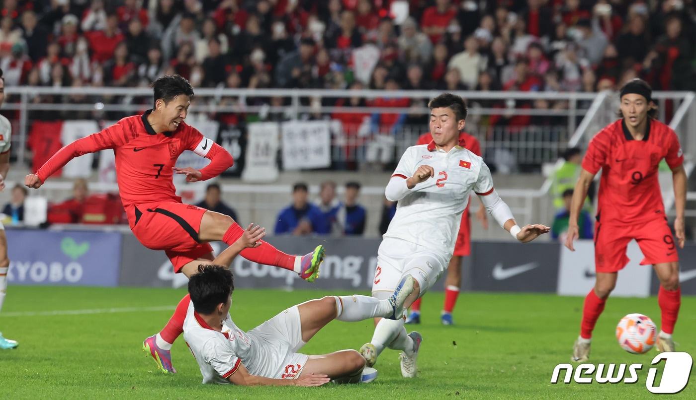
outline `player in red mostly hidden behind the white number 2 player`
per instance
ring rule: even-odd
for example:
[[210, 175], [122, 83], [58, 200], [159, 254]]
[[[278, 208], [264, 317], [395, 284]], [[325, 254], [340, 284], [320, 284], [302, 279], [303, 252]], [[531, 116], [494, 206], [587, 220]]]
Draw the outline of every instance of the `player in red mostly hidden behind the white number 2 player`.
[[[432, 135], [427, 132], [420, 135], [416, 145], [429, 144], [433, 141]], [[459, 133], [459, 146], [471, 151], [477, 156], [481, 156], [481, 144], [477, 138], [469, 135], [466, 132]], [[480, 207], [476, 213], [476, 218], [481, 222], [484, 229], [488, 229], [488, 219], [486, 217], [486, 208]], [[459, 226], [459, 235], [457, 235], [457, 243], [454, 244], [454, 255], [450, 259], [447, 266], [447, 278], [445, 278], [445, 302], [443, 303], [440, 321], [443, 325], [452, 325], [452, 311], [454, 304], [457, 303], [459, 297], [459, 288], [461, 287], [461, 258], [471, 255], [471, 222], [469, 219], [469, 207], [466, 206], [464, 213], [461, 215], [461, 226]], [[420, 301], [422, 297], [411, 304], [411, 314], [406, 318], [406, 324], [420, 324]]]

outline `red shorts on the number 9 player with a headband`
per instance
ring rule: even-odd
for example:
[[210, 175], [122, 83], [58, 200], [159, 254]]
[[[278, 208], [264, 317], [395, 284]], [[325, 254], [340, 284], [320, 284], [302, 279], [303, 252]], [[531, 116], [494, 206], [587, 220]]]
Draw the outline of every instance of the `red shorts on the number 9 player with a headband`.
[[665, 219], [654, 219], [633, 226], [612, 226], [598, 222], [594, 227], [594, 267], [596, 272], [619, 272], [628, 264], [626, 247], [635, 239], [643, 253], [640, 265], [679, 261], [677, 244]]

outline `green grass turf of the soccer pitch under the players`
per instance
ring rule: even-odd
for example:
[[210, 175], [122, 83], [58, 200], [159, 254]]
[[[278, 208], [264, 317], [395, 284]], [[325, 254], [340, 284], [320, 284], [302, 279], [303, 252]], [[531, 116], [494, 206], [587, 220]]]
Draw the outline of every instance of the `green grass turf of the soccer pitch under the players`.
[[[0, 330], [19, 340], [19, 349], [0, 351], [0, 398], [143, 399], [616, 399], [644, 398], [653, 356], [633, 356], [619, 348], [614, 327], [628, 313], [659, 322], [655, 298], [610, 299], [594, 335], [592, 363], [643, 363], [637, 384], [549, 383], [553, 367], [567, 363], [578, 333], [582, 299], [542, 294], [464, 293], [455, 326], [441, 326], [443, 296], [423, 301], [418, 331], [424, 342], [418, 378], [401, 377], [396, 351], [379, 358], [379, 377], [368, 385], [324, 387], [234, 387], [201, 385], [198, 367], [179, 340], [173, 349], [178, 374], [157, 372], [141, 342], [157, 332], [171, 311], [86, 315], [17, 315], [53, 310], [175, 306], [182, 290], [132, 288], [10, 287], [0, 314]], [[238, 290], [232, 317], [249, 330], [288, 305], [327, 292]], [[347, 294], [333, 293], [333, 294]], [[696, 298], [682, 300], [675, 338], [677, 350], [695, 354]], [[4, 314], [4, 315], [3, 315]], [[13, 314], [15, 314], [13, 316]], [[332, 322], [303, 349], [326, 353], [358, 349], [372, 337], [372, 322]], [[692, 381], [696, 379], [692, 376]], [[677, 398], [696, 398], [695, 383]]]

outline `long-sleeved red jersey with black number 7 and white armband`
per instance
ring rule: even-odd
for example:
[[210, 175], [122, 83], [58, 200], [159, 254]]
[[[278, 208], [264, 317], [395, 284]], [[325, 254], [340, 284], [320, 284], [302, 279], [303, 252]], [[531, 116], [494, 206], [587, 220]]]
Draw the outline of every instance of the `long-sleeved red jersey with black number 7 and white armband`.
[[152, 110], [148, 110], [143, 115], [123, 118], [98, 133], [68, 144], [40, 167], [36, 174], [45, 182], [46, 178], [74, 157], [113, 149], [118, 191], [132, 228], [132, 206], [159, 201], [181, 202], [172, 181], [172, 169], [185, 150], [211, 160], [209, 165], [200, 170], [202, 181], [221, 174], [232, 166], [232, 156], [228, 151], [184, 122], [175, 131], [155, 132], [148, 122], [151, 112]]

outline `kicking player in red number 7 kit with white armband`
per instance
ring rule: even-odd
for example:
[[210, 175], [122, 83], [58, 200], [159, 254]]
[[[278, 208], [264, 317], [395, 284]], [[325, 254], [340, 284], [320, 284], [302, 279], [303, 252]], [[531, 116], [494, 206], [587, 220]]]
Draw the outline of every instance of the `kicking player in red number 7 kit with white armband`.
[[[232, 244], [242, 237], [244, 229], [228, 215], [182, 203], [175, 194], [173, 174], [186, 174], [188, 182], [205, 181], [228, 169], [233, 160], [214, 140], [184, 122], [193, 97], [189, 81], [166, 75], [158, 78], [152, 88], [155, 108], [68, 144], [36, 174], [27, 175], [24, 183], [38, 189], [72, 158], [113, 149], [118, 190], [133, 234], [145, 247], [164, 250], [175, 272], [191, 276], [198, 265], [214, 260], [209, 242]], [[209, 165], [200, 170], [174, 167], [184, 150], [208, 158]], [[313, 282], [324, 259], [324, 247], [319, 245], [306, 256], [292, 256], [260, 242], [240, 254], [255, 263], [289, 269]], [[185, 317], [185, 312], [175, 311], [164, 329], [143, 343], [143, 349], [164, 372], [175, 372], [169, 349], [181, 335]]]

